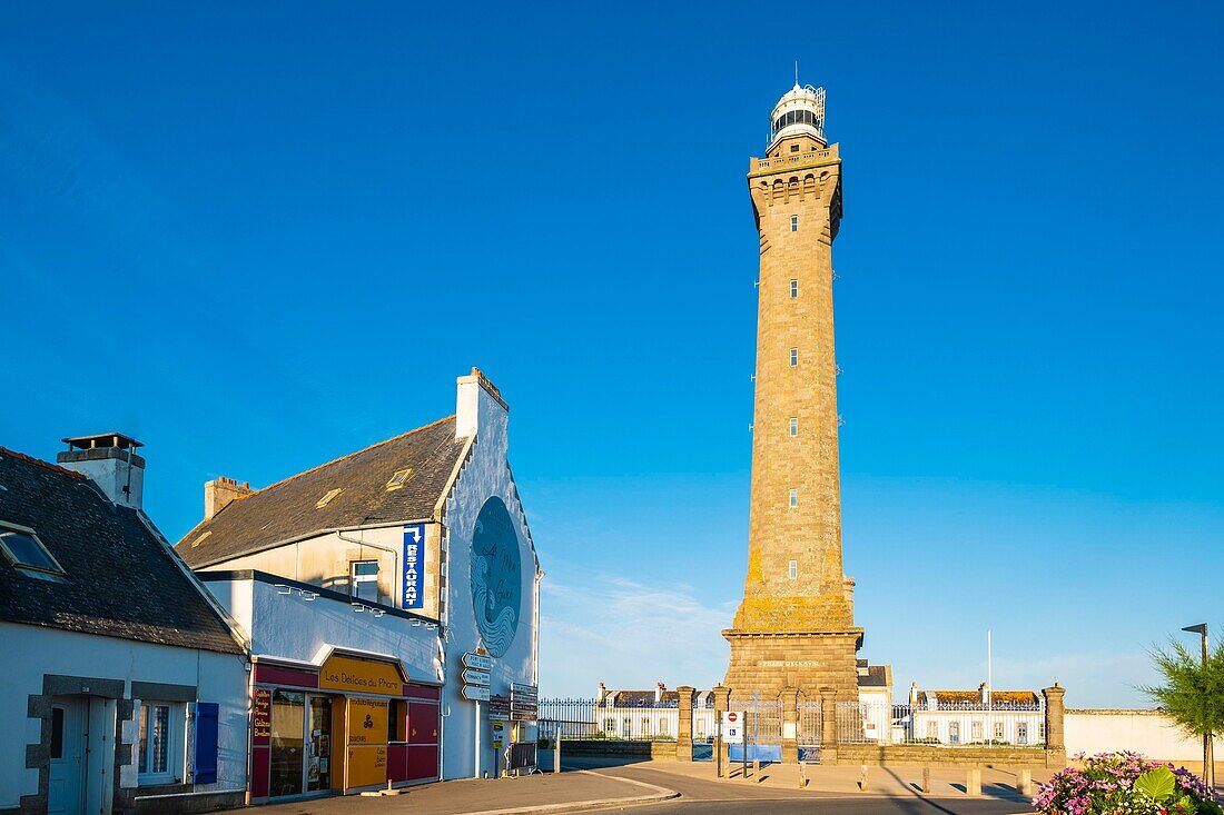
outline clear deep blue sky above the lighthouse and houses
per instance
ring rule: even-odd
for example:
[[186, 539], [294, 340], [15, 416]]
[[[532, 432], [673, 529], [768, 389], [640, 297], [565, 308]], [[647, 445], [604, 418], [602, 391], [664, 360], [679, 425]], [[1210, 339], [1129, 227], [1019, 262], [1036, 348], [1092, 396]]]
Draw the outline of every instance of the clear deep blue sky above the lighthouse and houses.
[[119, 428], [171, 537], [453, 410], [548, 573], [542, 693], [710, 685], [742, 591], [743, 175], [829, 91], [845, 551], [900, 688], [1142, 704], [1224, 622], [1219, 4], [9, 4], [0, 444]]

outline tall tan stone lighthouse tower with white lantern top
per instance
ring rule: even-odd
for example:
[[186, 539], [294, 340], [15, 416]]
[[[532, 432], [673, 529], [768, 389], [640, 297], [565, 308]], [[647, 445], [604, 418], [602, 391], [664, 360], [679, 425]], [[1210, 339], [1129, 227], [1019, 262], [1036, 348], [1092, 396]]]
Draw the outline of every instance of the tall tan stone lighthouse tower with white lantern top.
[[842, 573], [832, 244], [841, 159], [824, 88], [796, 84], [770, 116], [748, 187], [760, 235], [748, 578], [726, 685], [858, 698], [854, 581]]

